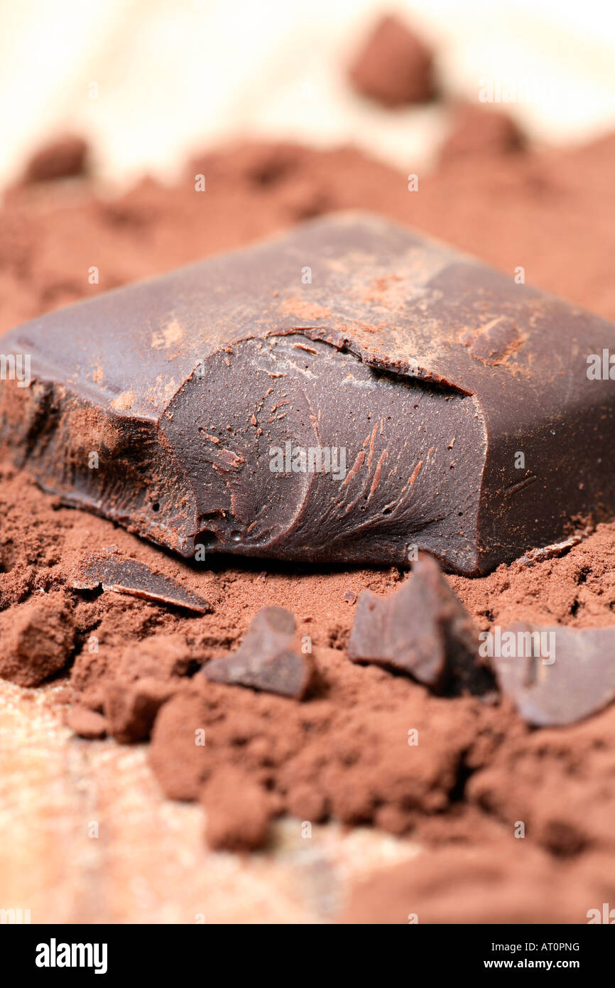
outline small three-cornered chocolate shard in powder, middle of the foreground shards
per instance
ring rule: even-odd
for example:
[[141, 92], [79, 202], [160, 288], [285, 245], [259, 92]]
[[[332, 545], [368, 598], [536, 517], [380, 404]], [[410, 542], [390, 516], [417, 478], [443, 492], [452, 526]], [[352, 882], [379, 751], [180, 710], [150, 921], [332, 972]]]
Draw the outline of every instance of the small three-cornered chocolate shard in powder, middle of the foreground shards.
[[249, 686], [301, 700], [310, 685], [313, 667], [298, 646], [295, 619], [284, 608], [263, 608], [254, 618], [240, 647], [203, 667], [214, 683]]

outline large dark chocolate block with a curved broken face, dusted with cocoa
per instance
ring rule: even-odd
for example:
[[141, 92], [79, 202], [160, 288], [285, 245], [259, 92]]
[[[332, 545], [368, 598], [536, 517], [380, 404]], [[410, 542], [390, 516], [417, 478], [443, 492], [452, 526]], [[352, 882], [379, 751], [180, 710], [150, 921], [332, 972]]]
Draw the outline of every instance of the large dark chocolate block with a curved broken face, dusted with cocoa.
[[196, 559], [425, 549], [476, 574], [615, 508], [615, 328], [369, 215], [60, 309], [2, 348], [16, 460]]

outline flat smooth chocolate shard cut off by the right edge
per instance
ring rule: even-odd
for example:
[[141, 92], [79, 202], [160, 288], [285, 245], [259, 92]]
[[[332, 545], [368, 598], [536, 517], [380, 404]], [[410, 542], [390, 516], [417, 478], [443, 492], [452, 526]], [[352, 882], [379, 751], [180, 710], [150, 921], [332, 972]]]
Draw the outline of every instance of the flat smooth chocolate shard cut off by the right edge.
[[536, 727], [573, 724], [615, 699], [615, 627], [501, 631], [494, 668], [501, 693]]

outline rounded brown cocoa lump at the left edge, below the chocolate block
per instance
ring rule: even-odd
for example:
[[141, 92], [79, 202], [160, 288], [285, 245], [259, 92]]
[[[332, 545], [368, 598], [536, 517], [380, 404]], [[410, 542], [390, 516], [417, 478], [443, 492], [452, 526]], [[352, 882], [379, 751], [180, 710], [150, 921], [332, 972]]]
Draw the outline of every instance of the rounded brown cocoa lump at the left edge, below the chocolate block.
[[38, 686], [70, 658], [75, 637], [65, 594], [38, 594], [0, 614], [0, 677]]

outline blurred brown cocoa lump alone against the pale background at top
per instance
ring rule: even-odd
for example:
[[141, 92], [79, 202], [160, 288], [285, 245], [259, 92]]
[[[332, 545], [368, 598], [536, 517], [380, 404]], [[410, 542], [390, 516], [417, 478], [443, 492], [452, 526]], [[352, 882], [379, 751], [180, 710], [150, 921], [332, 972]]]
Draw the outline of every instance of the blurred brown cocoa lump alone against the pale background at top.
[[386, 107], [424, 103], [434, 95], [432, 54], [397, 17], [373, 29], [349, 71], [352, 86]]

